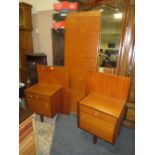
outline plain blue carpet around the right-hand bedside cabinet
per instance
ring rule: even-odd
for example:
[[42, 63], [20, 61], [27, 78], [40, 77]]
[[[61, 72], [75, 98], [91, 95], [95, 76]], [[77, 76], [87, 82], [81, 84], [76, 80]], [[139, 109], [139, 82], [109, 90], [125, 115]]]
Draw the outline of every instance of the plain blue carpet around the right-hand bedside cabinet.
[[75, 115], [58, 115], [50, 155], [134, 155], [135, 130], [122, 127], [115, 145], [98, 139], [77, 127]]

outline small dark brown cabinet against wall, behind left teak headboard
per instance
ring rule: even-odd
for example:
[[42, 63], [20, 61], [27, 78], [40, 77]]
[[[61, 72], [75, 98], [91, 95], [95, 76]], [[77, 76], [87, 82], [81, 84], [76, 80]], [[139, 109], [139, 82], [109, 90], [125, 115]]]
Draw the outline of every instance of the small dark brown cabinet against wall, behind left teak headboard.
[[38, 83], [37, 65], [47, 65], [47, 56], [44, 53], [26, 53], [27, 73], [29, 86]]

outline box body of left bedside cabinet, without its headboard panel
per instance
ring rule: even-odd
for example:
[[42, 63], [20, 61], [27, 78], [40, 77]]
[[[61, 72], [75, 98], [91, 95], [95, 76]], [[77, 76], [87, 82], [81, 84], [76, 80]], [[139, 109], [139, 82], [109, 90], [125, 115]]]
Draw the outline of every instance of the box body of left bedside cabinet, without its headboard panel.
[[35, 84], [25, 91], [28, 109], [53, 117], [62, 112], [62, 86]]

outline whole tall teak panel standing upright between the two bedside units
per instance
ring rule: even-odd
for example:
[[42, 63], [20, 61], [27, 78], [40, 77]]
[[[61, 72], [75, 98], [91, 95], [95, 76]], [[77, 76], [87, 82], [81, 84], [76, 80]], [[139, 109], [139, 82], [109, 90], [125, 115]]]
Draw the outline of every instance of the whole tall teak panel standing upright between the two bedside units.
[[65, 66], [70, 78], [70, 111], [85, 96], [86, 71], [96, 71], [100, 11], [69, 13], [65, 20]]

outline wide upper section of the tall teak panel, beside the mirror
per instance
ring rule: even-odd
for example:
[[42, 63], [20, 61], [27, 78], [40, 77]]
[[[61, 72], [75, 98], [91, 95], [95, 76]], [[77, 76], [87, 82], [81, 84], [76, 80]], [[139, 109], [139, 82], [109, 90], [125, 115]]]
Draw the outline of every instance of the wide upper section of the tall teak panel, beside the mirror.
[[68, 15], [65, 22], [65, 65], [96, 70], [100, 12]]

